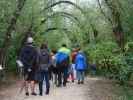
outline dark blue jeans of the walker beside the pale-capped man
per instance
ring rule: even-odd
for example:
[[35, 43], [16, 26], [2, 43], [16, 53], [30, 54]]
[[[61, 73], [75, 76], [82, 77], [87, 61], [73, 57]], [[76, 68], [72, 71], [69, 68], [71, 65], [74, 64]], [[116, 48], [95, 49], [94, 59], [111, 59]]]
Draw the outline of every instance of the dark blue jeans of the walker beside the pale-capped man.
[[39, 91], [40, 91], [40, 94], [43, 93], [43, 80], [45, 78], [45, 82], [46, 82], [46, 92], [49, 91], [49, 88], [50, 88], [50, 82], [49, 82], [49, 72], [48, 71], [41, 71], [40, 72], [41, 74], [41, 80], [39, 82]]

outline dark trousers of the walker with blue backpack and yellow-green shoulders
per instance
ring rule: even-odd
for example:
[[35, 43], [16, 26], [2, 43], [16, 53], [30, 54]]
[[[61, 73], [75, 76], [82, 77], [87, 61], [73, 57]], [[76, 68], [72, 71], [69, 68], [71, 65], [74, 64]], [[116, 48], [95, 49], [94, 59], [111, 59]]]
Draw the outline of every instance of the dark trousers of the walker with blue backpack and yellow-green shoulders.
[[58, 69], [58, 86], [62, 85], [62, 81], [63, 81], [63, 85], [66, 86], [67, 83], [67, 78], [68, 78], [68, 67], [59, 67]]

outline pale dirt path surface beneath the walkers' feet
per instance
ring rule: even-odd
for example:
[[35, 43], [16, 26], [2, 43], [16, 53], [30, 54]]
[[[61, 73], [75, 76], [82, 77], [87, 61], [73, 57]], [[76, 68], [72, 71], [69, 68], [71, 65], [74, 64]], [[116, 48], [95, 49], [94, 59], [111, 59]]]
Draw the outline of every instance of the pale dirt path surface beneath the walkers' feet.
[[[68, 83], [67, 87], [51, 86], [50, 95], [29, 96], [19, 94], [20, 84], [1, 90], [0, 100], [114, 100], [112, 83], [99, 78], [86, 78], [84, 85]], [[38, 90], [38, 89], [37, 89]], [[16, 96], [17, 95], [17, 96]]]

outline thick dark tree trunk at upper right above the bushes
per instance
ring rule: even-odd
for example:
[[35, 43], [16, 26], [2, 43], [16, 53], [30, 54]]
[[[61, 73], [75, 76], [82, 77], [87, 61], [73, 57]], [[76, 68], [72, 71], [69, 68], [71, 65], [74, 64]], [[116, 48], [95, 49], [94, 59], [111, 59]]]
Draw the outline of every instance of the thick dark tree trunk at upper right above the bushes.
[[111, 11], [112, 22], [113, 22], [113, 33], [116, 38], [116, 42], [119, 45], [119, 47], [122, 50], [124, 50], [124, 44], [125, 44], [124, 32], [123, 32], [121, 18], [120, 18], [121, 14], [117, 7], [117, 2], [115, 0], [112, 0], [112, 1], [105, 0], [105, 3]]

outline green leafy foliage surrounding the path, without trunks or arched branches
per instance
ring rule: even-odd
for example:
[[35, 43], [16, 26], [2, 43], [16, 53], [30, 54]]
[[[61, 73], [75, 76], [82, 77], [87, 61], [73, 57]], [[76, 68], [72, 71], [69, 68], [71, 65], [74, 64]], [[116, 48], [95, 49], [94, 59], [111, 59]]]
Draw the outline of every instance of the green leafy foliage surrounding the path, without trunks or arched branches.
[[[125, 52], [122, 52], [117, 46], [112, 33], [112, 25], [101, 13], [97, 2], [85, 4], [82, 0], [79, 0], [78, 5], [84, 11], [84, 13], [81, 13], [79, 9], [70, 7], [68, 4], [63, 4], [63, 6], [61, 4], [56, 5], [57, 7], [43, 11], [43, 8], [55, 2], [55, 0], [51, 0], [51, 2], [50, 0], [27, 0], [11, 34], [12, 41], [7, 54], [7, 68], [9, 70], [16, 68], [16, 59], [22, 46], [22, 40], [31, 27], [30, 32], [34, 33], [33, 38], [36, 46], [39, 47], [44, 41], [48, 42], [51, 49], [58, 49], [62, 43], [66, 43], [70, 48], [75, 44], [80, 44], [86, 52], [90, 63], [97, 64], [97, 72], [99, 74], [117, 79], [120, 82], [130, 80], [133, 69], [132, 1], [119, 0], [119, 4], [115, 0], [111, 1], [116, 4], [120, 12], [120, 21], [125, 33], [125, 42], [127, 42]], [[110, 17], [111, 12], [107, 6], [103, 2], [101, 2], [101, 6], [107, 17]], [[15, 9], [16, 0], [0, 1], [0, 47], [3, 44], [4, 33]], [[46, 19], [55, 12], [72, 14], [79, 20], [80, 25], [75, 20], [60, 15], [50, 17], [46, 23], [41, 23], [42, 19]], [[92, 25], [98, 31], [96, 38], [94, 37]], [[45, 33], [45, 30], [54, 27], [60, 29]], [[61, 30], [61, 28], [67, 30]]]

